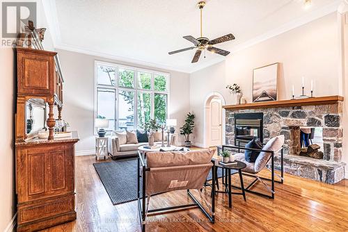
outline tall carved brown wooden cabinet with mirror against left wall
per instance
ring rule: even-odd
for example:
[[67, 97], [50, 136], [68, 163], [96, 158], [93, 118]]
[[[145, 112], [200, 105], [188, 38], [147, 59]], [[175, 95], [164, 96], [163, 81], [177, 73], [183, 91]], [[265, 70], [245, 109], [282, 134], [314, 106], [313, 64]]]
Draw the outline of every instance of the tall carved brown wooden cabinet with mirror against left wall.
[[[74, 144], [77, 132], [54, 138], [61, 118], [63, 78], [56, 52], [17, 48], [15, 164], [17, 231], [38, 231], [76, 219]], [[48, 138], [39, 138], [48, 127]]]

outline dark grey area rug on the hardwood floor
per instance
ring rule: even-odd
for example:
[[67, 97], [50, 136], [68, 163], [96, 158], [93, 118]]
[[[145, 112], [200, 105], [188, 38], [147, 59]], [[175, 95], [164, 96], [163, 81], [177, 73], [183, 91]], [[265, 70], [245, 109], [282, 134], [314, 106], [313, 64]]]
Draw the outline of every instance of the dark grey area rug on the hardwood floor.
[[[113, 205], [136, 200], [136, 158], [93, 163], [93, 166]], [[218, 176], [219, 178], [222, 176], [221, 168], [218, 169]], [[209, 172], [207, 180], [211, 179], [212, 173]]]

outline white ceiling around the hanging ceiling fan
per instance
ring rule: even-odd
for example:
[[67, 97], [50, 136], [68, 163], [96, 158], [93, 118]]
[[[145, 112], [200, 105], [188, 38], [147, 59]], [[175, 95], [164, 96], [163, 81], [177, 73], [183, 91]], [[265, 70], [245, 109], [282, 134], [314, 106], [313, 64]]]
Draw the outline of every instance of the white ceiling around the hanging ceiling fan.
[[[214, 39], [232, 33], [236, 40], [216, 45], [235, 51], [267, 33], [281, 33], [333, 12], [340, 0], [209, 0], [203, 10], [203, 36]], [[193, 72], [219, 62], [206, 53], [191, 64], [195, 50], [182, 36], [199, 37], [195, 0], [56, 0], [56, 47], [102, 54], [118, 60]], [[229, 56], [233, 56], [231, 53]]]

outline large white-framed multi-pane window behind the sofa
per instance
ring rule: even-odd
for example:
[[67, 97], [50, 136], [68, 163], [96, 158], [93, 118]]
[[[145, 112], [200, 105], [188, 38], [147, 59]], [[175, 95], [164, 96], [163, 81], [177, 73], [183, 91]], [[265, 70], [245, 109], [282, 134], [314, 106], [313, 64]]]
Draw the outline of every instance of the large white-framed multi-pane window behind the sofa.
[[169, 74], [95, 62], [95, 117], [109, 119], [109, 129], [143, 129], [168, 116]]

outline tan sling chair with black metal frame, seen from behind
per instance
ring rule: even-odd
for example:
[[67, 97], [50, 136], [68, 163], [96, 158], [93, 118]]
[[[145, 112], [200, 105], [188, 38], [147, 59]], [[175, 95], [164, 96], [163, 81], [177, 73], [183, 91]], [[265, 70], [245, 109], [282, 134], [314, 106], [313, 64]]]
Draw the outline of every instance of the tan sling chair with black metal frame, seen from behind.
[[[212, 169], [212, 179], [215, 180], [214, 151], [167, 151], [150, 152], [146, 154], [146, 165], [143, 155], [138, 153], [138, 210], [141, 229], [145, 232], [146, 217], [148, 213], [175, 210], [179, 208], [200, 208], [203, 214], [214, 223], [215, 220], [215, 187], [212, 188], [212, 202], [210, 213], [193, 196], [190, 190], [197, 190], [202, 201], [209, 206], [200, 189], [203, 188], [209, 171]], [[142, 193], [141, 193], [142, 190]], [[171, 206], [166, 208], [149, 209], [150, 199], [153, 194], [187, 190], [193, 201], [192, 204]], [[167, 212], [166, 212], [167, 213]]]

